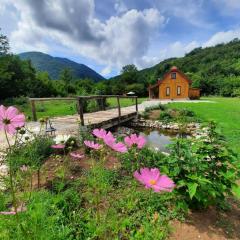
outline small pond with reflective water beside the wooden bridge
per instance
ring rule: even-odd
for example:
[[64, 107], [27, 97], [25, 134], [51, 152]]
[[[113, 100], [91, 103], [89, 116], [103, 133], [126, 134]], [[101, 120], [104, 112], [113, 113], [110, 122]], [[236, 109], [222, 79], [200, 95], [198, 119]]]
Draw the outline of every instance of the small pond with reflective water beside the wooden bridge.
[[[146, 138], [148, 147], [167, 153], [169, 153], [167, 146], [172, 143], [173, 138], [179, 137], [179, 133], [174, 131], [151, 128], [135, 128], [135, 130], [138, 134]], [[183, 137], [188, 137], [188, 135], [184, 135]]]

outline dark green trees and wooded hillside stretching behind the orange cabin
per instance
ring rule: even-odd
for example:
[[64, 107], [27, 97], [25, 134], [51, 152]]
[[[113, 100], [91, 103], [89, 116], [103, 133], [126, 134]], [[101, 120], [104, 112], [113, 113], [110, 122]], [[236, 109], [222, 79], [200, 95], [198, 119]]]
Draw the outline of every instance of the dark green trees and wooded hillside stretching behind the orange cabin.
[[240, 96], [240, 40], [215, 47], [196, 48], [182, 58], [164, 60], [152, 68], [138, 71], [133, 64], [109, 80], [94, 82], [75, 79], [70, 69], [63, 69], [59, 80], [47, 72], [37, 72], [29, 60], [9, 53], [7, 37], [0, 34], [0, 100], [89, 94], [124, 94], [130, 91], [147, 96], [147, 87], [177, 66], [193, 80], [193, 87], [203, 95]]

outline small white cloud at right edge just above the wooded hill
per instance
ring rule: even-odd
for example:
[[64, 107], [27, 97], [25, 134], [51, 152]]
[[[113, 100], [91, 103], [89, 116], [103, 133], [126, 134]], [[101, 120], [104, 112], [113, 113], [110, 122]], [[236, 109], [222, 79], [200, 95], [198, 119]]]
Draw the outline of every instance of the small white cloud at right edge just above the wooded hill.
[[214, 34], [207, 42], [203, 44], [203, 47], [215, 46], [219, 43], [227, 43], [234, 38], [240, 38], [240, 30], [229, 30], [226, 32], [218, 32]]

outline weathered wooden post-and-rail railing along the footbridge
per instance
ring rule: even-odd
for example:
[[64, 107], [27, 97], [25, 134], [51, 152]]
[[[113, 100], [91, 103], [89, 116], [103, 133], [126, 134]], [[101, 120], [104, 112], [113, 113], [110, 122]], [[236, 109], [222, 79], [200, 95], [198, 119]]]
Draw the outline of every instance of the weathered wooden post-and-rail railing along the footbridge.
[[84, 126], [84, 102], [90, 100], [97, 100], [100, 103], [100, 110], [106, 110], [106, 99], [107, 98], [116, 98], [117, 100], [117, 109], [118, 109], [118, 117], [121, 117], [121, 104], [120, 99], [130, 98], [135, 100], [135, 108], [136, 113], [138, 113], [138, 97], [137, 96], [124, 96], [124, 95], [92, 95], [92, 96], [77, 96], [77, 97], [55, 97], [55, 98], [29, 98], [31, 109], [32, 109], [32, 117], [33, 121], [37, 121], [37, 111], [36, 111], [36, 102], [44, 102], [44, 101], [76, 101], [77, 110], [80, 116], [80, 124]]

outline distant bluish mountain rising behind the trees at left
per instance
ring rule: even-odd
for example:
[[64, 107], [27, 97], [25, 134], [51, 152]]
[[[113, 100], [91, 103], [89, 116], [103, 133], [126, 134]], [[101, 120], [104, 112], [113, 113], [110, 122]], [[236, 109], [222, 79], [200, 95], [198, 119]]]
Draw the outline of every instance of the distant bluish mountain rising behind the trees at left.
[[31, 60], [38, 71], [48, 72], [51, 79], [59, 79], [61, 71], [64, 68], [69, 68], [72, 70], [74, 78], [91, 78], [95, 82], [104, 80], [104, 77], [88, 66], [67, 58], [52, 57], [42, 52], [24, 52], [20, 53], [19, 57], [23, 60]]

